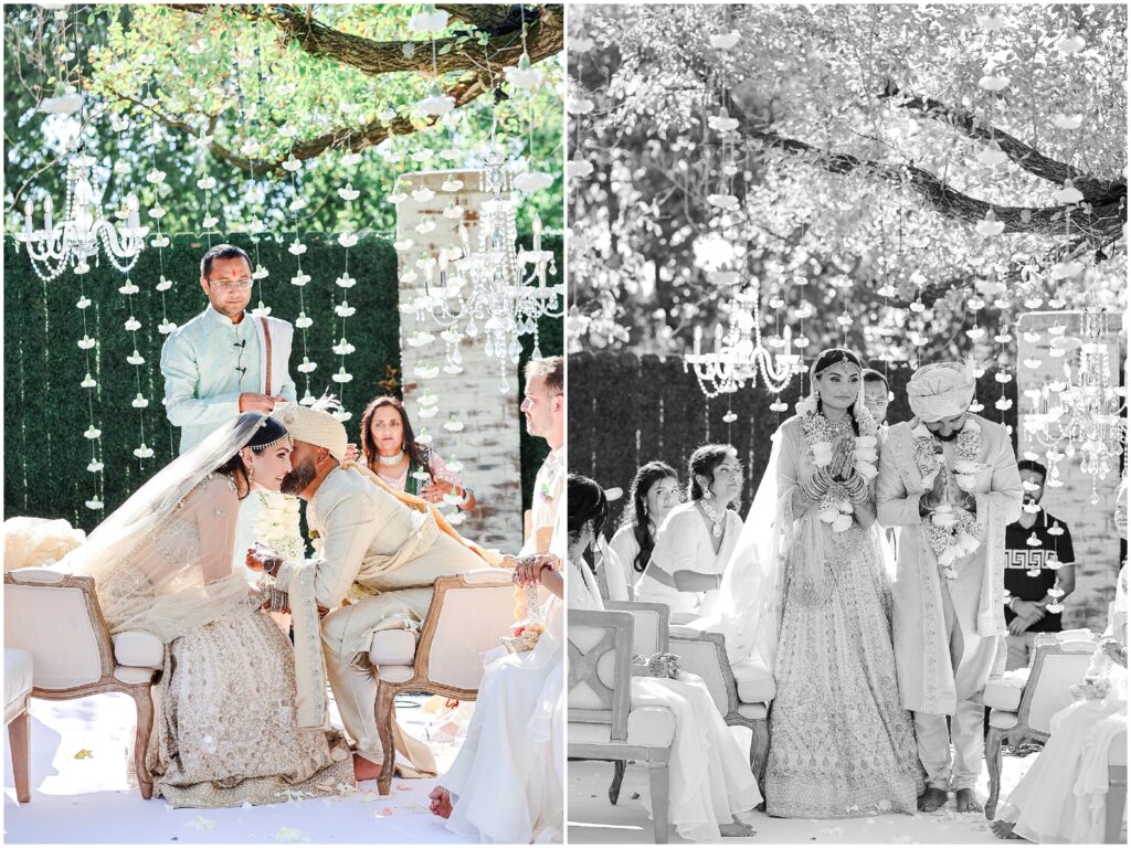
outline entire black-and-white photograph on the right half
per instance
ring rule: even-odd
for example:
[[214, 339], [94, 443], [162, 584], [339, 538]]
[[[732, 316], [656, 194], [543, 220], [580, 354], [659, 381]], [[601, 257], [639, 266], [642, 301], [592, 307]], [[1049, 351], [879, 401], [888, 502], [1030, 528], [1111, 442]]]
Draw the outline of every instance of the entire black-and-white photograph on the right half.
[[1125, 843], [1125, 32], [570, 7], [571, 843]]

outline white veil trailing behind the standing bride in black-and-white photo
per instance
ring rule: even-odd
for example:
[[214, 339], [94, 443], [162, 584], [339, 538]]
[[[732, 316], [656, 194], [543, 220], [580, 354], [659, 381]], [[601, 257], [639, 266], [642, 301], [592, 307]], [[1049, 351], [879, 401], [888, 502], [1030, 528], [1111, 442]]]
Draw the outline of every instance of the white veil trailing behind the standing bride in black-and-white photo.
[[732, 663], [749, 661], [774, 673], [778, 631], [780, 539], [792, 516], [780, 514], [777, 468], [783, 433], [774, 433], [762, 474], [739, 544], [727, 563], [715, 606], [691, 622], [698, 630], [723, 633]]

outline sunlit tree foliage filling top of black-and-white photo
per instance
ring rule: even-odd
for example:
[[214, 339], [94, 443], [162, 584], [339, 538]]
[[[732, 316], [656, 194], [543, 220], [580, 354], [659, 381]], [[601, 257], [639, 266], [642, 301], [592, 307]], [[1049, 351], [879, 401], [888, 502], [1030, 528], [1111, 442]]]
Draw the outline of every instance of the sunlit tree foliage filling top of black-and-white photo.
[[1125, 25], [1103, 5], [571, 11], [571, 349], [682, 352], [753, 279], [809, 356], [1009, 361], [1021, 311], [1122, 308]]

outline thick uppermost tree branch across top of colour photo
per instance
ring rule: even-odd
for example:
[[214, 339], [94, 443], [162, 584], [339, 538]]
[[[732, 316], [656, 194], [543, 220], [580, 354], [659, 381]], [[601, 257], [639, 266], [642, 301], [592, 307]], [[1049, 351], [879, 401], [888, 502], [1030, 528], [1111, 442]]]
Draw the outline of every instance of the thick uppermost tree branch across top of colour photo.
[[[206, 14], [210, 7], [197, 3], [166, 3], [171, 9]], [[432, 73], [431, 41], [373, 41], [360, 35], [343, 33], [339, 29], [308, 20], [307, 15], [295, 5], [276, 3], [270, 6], [239, 5], [230, 7], [240, 15], [254, 21], [267, 21], [283, 36], [286, 43], [296, 43], [312, 57], [330, 59], [342, 64], [356, 68], [368, 76], [381, 76], [400, 71]], [[506, 23], [510, 7], [483, 6], [447, 7], [449, 14], [464, 20], [487, 24], [491, 32], [492, 23]], [[499, 9], [506, 10], [500, 21]], [[452, 10], [457, 10], [454, 12]], [[489, 14], [489, 10], [491, 11]], [[532, 7], [530, 23], [527, 26], [526, 47], [532, 62], [539, 62], [561, 52], [563, 45], [564, 17], [560, 6]], [[451, 71], [482, 72], [484, 66], [491, 72], [500, 73], [504, 67], [517, 64], [523, 53], [520, 29], [502, 27], [502, 32], [491, 35], [485, 46], [474, 38], [459, 43], [456, 37], [438, 38], [435, 41], [435, 70], [438, 73]], [[448, 53], [440, 50], [450, 46]]]

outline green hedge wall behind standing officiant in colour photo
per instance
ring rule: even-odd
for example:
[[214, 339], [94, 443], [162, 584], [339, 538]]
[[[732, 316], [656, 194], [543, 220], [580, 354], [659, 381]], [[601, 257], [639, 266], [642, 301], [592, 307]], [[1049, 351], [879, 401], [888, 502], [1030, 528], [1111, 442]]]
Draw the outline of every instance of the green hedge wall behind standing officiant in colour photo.
[[[244, 235], [231, 235], [232, 243], [254, 257], [253, 245]], [[214, 243], [217, 240], [214, 240]], [[259, 261], [270, 274], [257, 285], [252, 305], [260, 298], [271, 308], [271, 314], [294, 321], [300, 311], [300, 289], [291, 285], [297, 262], [287, 252], [291, 237], [282, 242], [259, 244]], [[528, 241], [528, 240], [527, 240]], [[349, 304], [357, 311], [346, 319], [346, 336], [356, 348], [346, 357], [352, 382], [344, 386], [330, 380], [338, 370], [340, 357], [331, 347], [342, 337], [342, 319], [334, 305], [342, 300], [342, 289], [334, 280], [344, 271], [345, 251], [334, 235], [303, 236], [308, 251], [302, 257], [303, 271], [311, 282], [303, 287], [307, 314], [314, 323], [307, 330], [311, 361], [318, 370], [310, 374], [314, 395], [334, 391], [354, 417], [346, 429], [351, 438], [365, 404], [383, 393], [379, 386], [387, 380], [388, 369], [400, 366], [397, 311], [397, 256], [391, 242], [380, 236], [365, 236], [349, 250], [349, 274], [357, 285], [349, 289]], [[162, 293], [155, 285], [162, 274], [173, 282], [164, 293], [165, 314], [178, 325], [185, 323], [207, 304], [200, 289], [200, 257], [207, 244], [191, 236], [176, 237], [162, 251], [147, 249], [133, 267], [130, 279], [140, 288], [132, 295], [119, 293], [124, 277], [103, 262], [80, 278], [64, 274], [44, 284], [35, 276], [23, 246], [5, 239], [5, 517], [41, 516], [66, 518], [78, 527], [92, 529], [115, 509], [175, 452], [176, 431], [164, 416], [161, 377], [161, 347], [165, 336], [157, 326], [162, 320]], [[561, 261], [561, 239], [546, 239], [549, 250]], [[85, 310], [87, 331], [98, 340], [89, 352], [92, 374], [97, 388], [79, 387], [86, 373], [86, 353], [78, 347], [84, 335], [84, 311], [76, 308], [80, 294], [93, 302]], [[145, 364], [135, 369], [127, 363], [135, 346], [124, 323], [130, 315], [140, 321], [137, 348]], [[542, 349], [547, 355], [561, 351], [562, 329], [545, 326]], [[301, 397], [307, 378], [296, 371], [302, 361], [302, 331], [295, 331], [291, 373]], [[140, 377], [138, 377], [138, 373]], [[149, 400], [146, 409], [135, 409], [130, 401], [141, 392]], [[521, 388], [519, 388], [521, 391]], [[89, 404], [89, 408], [88, 408]], [[95, 426], [102, 430], [100, 459], [102, 473], [87, 471], [92, 444], [83, 433], [89, 426], [90, 409]], [[145, 441], [155, 455], [137, 459], [132, 451]], [[541, 440], [523, 434], [524, 479], [529, 461], [530, 477], [541, 462]], [[105, 510], [93, 511], [84, 503], [95, 493], [102, 496]], [[524, 501], [529, 491], [524, 488]]]

